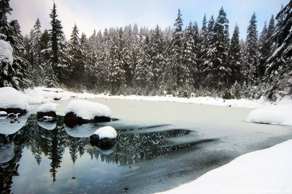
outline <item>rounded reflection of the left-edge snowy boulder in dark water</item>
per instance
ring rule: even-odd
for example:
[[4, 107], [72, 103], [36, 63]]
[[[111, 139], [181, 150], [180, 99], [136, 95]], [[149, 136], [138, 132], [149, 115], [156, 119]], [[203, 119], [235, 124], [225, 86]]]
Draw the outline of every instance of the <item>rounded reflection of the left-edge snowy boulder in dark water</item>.
[[0, 133], [5, 135], [10, 135], [16, 133], [21, 129], [27, 121], [27, 115], [19, 116], [16, 122], [10, 123], [14, 121], [14, 119], [0, 119]]

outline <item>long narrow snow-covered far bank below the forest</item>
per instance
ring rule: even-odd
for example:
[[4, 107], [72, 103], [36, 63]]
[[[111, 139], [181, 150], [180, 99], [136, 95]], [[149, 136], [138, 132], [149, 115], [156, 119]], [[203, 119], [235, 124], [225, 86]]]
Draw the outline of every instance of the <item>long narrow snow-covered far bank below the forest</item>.
[[281, 100], [274, 103], [267, 102], [264, 99], [259, 100], [247, 100], [247, 99], [232, 99], [224, 100], [222, 98], [211, 98], [211, 97], [191, 97], [179, 98], [167, 96], [111, 96], [104, 94], [90, 94], [90, 93], [74, 93], [67, 92], [62, 89], [50, 89], [37, 87], [35, 89], [26, 89], [23, 92], [23, 97], [26, 99], [28, 104], [40, 104], [50, 102], [53, 99], [68, 100], [71, 98], [87, 99], [87, 98], [103, 98], [103, 99], [127, 99], [127, 100], [148, 100], [148, 101], [165, 101], [165, 102], [181, 102], [191, 104], [203, 104], [203, 105], [218, 105], [218, 106], [232, 106], [232, 107], [244, 107], [244, 108], [262, 108], [270, 105], [280, 105], [292, 103], [290, 96], [284, 96]]

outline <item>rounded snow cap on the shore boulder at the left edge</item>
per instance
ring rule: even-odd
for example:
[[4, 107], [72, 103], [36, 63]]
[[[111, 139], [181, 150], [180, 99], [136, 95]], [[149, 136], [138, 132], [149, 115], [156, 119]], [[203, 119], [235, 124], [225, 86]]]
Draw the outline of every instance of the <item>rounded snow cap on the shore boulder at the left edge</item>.
[[0, 108], [14, 108], [28, 111], [30, 106], [16, 89], [3, 87], [0, 88]]

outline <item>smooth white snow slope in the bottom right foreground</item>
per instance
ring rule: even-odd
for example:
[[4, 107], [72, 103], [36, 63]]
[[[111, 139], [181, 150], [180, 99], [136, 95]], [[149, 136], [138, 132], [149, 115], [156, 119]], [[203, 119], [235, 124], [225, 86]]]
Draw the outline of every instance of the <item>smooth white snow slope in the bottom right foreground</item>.
[[176, 193], [290, 193], [292, 140], [244, 154], [175, 189]]

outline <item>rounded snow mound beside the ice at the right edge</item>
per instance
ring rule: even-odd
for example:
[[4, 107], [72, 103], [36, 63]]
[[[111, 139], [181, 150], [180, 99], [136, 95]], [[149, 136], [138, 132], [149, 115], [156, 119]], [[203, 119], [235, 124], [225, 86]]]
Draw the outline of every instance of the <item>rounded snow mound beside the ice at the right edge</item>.
[[274, 105], [253, 110], [246, 121], [292, 125], [292, 104]]

